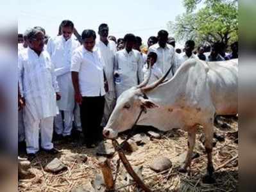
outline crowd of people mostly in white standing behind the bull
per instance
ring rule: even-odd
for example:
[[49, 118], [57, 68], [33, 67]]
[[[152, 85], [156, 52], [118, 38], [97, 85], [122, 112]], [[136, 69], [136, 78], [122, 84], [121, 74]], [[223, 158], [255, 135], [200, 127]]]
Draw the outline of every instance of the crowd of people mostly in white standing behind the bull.
[[238, 58], [238, 43], [216, 42], [211, 47], [188, 40], [175, 49], [175, 38], [165, 30], [148, 38], [148, 47], [131, 33], [108, 35], [108, 25], [81, 35], [71, 20], [63, 20], [58, 35], [49, 38], [35, 26], [18, 35], [19, 145], [26, 143], [29, 159], [40, 150], [58, 154], [54, 140], [70, 142], [73, 132], [83, 133], [83, 143], [94, 148], [103, 140], [115, 102], [125, 90], [151, 76], [153, 83], [171, 67], [168, 79], [190, 58], [224, 61]]

